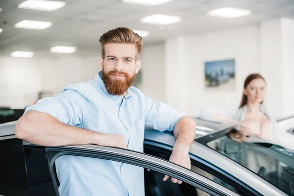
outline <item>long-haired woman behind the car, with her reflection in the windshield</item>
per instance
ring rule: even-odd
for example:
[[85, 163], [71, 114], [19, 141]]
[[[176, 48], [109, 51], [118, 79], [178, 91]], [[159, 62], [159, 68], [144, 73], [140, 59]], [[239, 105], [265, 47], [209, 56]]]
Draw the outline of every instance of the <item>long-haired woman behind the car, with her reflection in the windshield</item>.
[[[250, 74], [245, 79], [243, 97], [237, 111], [224, 114], [203, 110], [199, 116], [207, 120], [234, 124], [236, 127], [228, 132], [228, 137], [236, 142], [245, 142], [248, 136], [273, 140], [276, 121], [263, 106], [265, 92], [265, 79], [260, 74]], [[256, 173], [262, 167], [266, 173], [274, 172], [277, 168], [274, 158], [250, 148], [241, 155], [241, 160], [248, 169]]]

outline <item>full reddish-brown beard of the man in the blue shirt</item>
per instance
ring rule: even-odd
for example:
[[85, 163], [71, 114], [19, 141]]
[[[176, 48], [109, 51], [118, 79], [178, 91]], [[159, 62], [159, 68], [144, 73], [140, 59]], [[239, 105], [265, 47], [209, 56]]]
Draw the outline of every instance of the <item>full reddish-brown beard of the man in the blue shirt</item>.
[[[125, 75], [125, 78], [116, 79], [111, 74], [123, 74]], [[134, 75], [129, 76], [129, 74], [125, 72], [110, 71], [105, 73], [104, 70], [102, 70], [102, 79], [106, 90], [110, 95], [123, 95], [132, 85], [135, 79], [135, 73]]]

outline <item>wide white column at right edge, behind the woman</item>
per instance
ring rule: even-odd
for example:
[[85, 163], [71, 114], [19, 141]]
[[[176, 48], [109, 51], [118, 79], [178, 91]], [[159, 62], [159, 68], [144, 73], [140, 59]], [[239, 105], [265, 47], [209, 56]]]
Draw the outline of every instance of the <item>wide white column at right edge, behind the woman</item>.
[[294, 114], [294, 20], [261, 24], [261, 73], [267, 80], [266, 105], [277, 118]]

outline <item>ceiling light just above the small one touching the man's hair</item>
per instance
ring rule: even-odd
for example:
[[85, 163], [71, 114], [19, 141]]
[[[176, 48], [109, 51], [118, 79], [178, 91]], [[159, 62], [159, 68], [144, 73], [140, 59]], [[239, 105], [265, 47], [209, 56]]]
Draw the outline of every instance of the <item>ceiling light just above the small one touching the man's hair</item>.
[[172, 23], [177, 23], [182, 20], [179, 16], [170, 16], [164, 14], [154, 14], [151, 16], [144, 17], [140, 19], [141, 23], [153, 24], [153, 25], [170, 25]]

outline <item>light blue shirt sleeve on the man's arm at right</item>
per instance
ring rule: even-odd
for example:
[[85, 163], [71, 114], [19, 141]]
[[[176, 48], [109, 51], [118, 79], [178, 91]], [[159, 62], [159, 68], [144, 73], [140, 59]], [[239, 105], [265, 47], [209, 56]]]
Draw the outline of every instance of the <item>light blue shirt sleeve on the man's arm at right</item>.
[[172, 131], [175, 124], [185, 116], [183, 112], [165, 103], [146, 98], [145, 125], [159, 131]]

